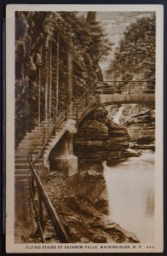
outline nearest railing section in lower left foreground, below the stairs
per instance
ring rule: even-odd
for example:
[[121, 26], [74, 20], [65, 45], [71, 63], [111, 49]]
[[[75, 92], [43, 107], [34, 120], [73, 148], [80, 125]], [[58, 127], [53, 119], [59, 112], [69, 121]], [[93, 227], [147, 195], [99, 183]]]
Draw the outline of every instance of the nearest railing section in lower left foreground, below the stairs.
[[43, 184], [41, 183], [39, 177], [37, 176], [37, 172], [34, 169], [32, 164], [32, 156], [28, 154], [27, 156], [28, 163], [30, 166], [30, 190], [32, 194], [32, 202], [33, 207], [36, 215], [36, 222], [37, 222], [37, 233], [41, 236], [42, 242], [45, 242], [44, 238], [44, 218], [43, 218], [43, 206], [48, 213], [49, 220], [52, 222], [55, 234], [59, 236], [61, 242], [66, 243], [70, 242], [69, 237], [66, 234], [66, 230], [60, 224], [60, 219], [58, 218], [57, 214], [55, 213], [55, 209], [52, 203], [49, 201], [49, 197], [43, 189]]

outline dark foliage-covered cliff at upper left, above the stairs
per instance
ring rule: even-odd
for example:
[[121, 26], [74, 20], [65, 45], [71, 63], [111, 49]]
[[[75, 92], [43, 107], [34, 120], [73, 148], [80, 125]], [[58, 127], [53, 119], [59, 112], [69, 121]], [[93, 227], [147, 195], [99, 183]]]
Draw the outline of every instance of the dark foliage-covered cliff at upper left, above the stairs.
[[[99, 61], [111, 44], [101, 25], [88, 22], [74, 12], [17, 12], [15, 22], [15, 134], [18, 144], [26, 131], [37, 123], [38, 70], [41, 69], [41, 117], [45, 118], [45, 84], [47, 79], [47, 34], [52, 41], [52, 112], [55, 112], [56, 44], [60, 35], [59, 108], [67, 102], [67, 51], [73, 59], [73, 98], [81, 96], [95, 81], [102, 79]], [[42, 66], [36, 55], [42, 51]], [[35, 66], [34, 66], [35, 65]], [[34, 67], [34, 70], [32, 70]], [[50, 83], [50, 81], [49, 81]]]

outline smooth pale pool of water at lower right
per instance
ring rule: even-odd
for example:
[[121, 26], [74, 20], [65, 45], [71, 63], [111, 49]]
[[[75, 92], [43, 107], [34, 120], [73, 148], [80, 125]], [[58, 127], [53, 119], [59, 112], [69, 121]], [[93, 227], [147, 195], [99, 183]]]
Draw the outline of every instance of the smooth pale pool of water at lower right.
[[143, 152], [118, 166], [103, 162], [110, 216], [141, 242], [153, 242], [154, 154]]

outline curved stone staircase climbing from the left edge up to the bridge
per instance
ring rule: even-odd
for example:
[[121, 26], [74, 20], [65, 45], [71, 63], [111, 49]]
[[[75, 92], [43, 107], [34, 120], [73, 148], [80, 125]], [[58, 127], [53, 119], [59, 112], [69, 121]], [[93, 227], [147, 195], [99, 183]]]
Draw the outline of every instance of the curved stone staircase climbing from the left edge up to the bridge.
[[[90, 92], [92, 87], [89, 89]], [[88, 92], [89, 92], [88, 90]], [[91, 92], [92, 93], [92, 92]], [[67, 118], [73, 119], [79, 122], [83, 119], [85, 113], [91, 108], [95, 103], [95, 96], [92, 94], [83, 94], [82, 97], [76, 98], [72, 102], [72, 108], [68, 109]], [[67, 104], [66, 104], [67, 106]], [[65, 106], [65, 107], [66, 107]], [[43, 134], [46, 134], [43, 152], [40, 157], [37, 157], [37, 161], [34, 162], [34, 166], [37, 168], [39, 165], [44, 165], [49, 168], [49, 153], [55, 144], [60, 140], [60, 137], [68, 130], [68, 125], [65, 119], [61, 117], [66, 113], [67, 108], [62, 108], [55, 114], [56, 120], [60, 119], [60, 124], [55, 125], [55, 119], [44, 120], [41, 124], [38, 124], [31, 132], [26, 132], [26, 136], [23, 137], [20, 144], [15, 150], [15, 163], [14, 163], [14, 180], [16, 186], [27, 186], [29, 183], [29, 163], [27, 160], [28, 154], [32, 153], [32, 162], [36, 159], [37, 154], [43, 148]], [[48, 128], [48, 125], [51, 124]], [[53, 127], [55, 129], [53, 130]], [[53, 132], [52, 132], [53, 131]]]

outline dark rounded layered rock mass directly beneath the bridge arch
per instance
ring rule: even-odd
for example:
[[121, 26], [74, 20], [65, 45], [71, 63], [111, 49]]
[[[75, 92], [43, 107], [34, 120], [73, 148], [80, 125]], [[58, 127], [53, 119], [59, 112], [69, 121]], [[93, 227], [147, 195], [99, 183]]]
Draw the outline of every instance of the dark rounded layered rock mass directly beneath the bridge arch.
[[107, 110], [98, 108], [84, 119], [74, 136], [74, 154], [91, 162], [115, 163], [124, 158], [129, 135], [123, 126], [107, 118]]

